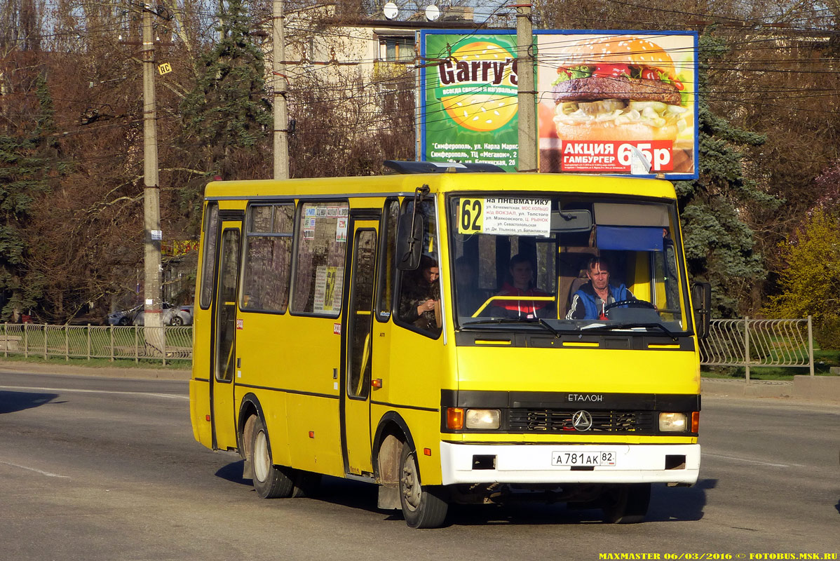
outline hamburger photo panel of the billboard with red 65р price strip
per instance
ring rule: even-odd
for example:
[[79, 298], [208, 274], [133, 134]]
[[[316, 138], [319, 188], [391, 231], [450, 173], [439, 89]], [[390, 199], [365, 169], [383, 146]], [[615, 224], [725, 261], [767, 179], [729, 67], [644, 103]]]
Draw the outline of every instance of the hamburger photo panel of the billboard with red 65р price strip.
[[538, 35], [540, 171], [696, 177], [693, 34]]

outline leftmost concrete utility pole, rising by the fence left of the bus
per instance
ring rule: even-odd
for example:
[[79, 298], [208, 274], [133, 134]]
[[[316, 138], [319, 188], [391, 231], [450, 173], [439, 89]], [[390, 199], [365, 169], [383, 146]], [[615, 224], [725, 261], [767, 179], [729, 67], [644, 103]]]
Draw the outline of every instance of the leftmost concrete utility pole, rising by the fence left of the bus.
[[[144, 207], [144, 325], [146, 343], [161, 349], [163, 310], [160, 291], [160, 186], [157, 160], [157, 110], [155, 108], [155, 38], [152, 11], [143, 6], [143, 207]], [[158, 328], [158, 329], [155, 329]]]

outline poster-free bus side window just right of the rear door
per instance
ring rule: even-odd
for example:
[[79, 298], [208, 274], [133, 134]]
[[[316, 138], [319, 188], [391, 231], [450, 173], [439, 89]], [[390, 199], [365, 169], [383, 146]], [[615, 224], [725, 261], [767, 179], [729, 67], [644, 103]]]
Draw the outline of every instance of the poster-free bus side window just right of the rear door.
[[252, 205], [245, 233], [243, 310], [286, 312], [294, 204]]

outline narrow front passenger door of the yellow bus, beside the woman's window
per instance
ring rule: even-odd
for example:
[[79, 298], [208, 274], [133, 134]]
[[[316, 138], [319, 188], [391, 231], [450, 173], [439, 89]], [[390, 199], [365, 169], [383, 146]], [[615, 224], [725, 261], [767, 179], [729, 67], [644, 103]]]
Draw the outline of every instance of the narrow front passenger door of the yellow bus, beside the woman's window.
[[378, 220], [351, 222], [353, 255], [344, 324], [341, 433], [344, 471], [372, 475], [370, 459], [370, 376], [373, 358], [373, 287]]

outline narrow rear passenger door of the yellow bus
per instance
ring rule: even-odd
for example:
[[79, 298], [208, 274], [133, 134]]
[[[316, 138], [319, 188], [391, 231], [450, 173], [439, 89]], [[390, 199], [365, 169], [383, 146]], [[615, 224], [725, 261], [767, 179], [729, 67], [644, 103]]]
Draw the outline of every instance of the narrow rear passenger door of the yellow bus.
[[236, 296], [239, 293], [242, 222], [223, 220], [213, 295], [213, 359], [210, 401], [213, 448], [236, 448], [234, 373], [236, 371]]

